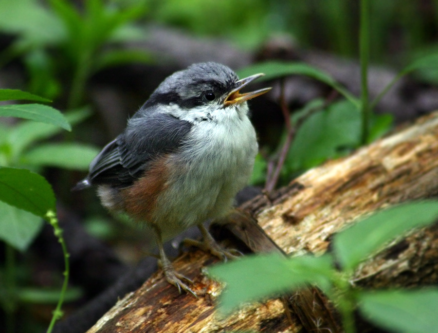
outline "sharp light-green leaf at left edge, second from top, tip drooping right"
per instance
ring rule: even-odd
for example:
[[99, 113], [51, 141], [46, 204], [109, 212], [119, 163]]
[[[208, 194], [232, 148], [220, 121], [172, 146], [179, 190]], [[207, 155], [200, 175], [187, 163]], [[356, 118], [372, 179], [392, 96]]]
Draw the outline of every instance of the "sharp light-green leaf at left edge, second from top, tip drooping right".
[[41, 123], [56, 125], [67, 130], [72, 129], [61, 112], [41, 104], [0, 105], [0, 117], [1, 116], [30, 119]]

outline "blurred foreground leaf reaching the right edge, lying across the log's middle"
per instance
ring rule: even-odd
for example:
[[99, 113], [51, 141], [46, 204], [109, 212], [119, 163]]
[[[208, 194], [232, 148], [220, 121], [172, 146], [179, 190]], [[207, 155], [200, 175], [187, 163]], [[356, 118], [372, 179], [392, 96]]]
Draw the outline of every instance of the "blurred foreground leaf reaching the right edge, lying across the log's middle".
[[344, 269], [354, 269], [384, 244], [438, 217], [438, 202], [424, 200], [381, 210], [335, 235], [333, 250]]

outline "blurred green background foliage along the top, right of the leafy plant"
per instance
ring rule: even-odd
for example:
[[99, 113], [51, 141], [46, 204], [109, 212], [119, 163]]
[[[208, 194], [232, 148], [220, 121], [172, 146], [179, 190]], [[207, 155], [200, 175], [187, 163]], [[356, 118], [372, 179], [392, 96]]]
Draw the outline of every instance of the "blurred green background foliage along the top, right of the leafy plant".
[[[132, 0], [119, 0], [132, 2]], [[402, 61], [403, 52], [436, 41], [438, 3], [370, 1], [371, 61]], [[201, 36], [227, 37], [256, 47], [274, 34], [299, 46], [357, 57], [359, 1], [349, 0], [148, 0], [147, 18]], [[396, 58], [394, 58], [396, 56]]]

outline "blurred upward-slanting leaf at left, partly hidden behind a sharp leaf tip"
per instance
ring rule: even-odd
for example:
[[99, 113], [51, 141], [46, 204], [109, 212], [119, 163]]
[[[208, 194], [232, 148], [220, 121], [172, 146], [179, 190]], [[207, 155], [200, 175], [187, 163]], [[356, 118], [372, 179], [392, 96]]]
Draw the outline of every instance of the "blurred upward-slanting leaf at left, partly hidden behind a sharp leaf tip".
[[[90, 115], [91, 111], [89, 108], [81, 108], [66, 112], [65, 118], [70, 124], [75, 125]], [[35, 121], [23, 121], [11, 130], [9, 142], [12, 145], [14, 154], [17, 156], [32, 143], [50, 138], [61, 131], [62, 129], [58, 126], [37, 123]]]

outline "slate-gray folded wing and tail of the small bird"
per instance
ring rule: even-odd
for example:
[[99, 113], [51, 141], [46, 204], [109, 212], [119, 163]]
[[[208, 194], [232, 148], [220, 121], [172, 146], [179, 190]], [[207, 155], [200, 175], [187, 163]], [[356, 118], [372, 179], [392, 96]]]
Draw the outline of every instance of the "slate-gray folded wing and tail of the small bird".
[[87, 178], [73, 189], [104, 184], [114, 188], [132, 185], [152, 160], [177, 151], [191, 126], [187, 121], [163, 113], [134, 116], [125, 132], [94, 158]]

